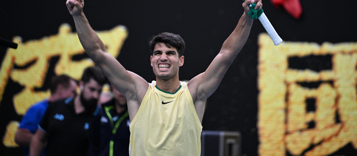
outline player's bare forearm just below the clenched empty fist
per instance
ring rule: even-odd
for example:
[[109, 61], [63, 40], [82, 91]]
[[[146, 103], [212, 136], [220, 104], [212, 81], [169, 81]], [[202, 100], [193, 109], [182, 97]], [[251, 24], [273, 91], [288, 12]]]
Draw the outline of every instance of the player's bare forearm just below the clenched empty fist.
[[95, 62], [100, 63], [102, 53], [106, 52], [104, 43], [89, 25], [84, 13], [73, 16], [79, 41], [88, 56]]

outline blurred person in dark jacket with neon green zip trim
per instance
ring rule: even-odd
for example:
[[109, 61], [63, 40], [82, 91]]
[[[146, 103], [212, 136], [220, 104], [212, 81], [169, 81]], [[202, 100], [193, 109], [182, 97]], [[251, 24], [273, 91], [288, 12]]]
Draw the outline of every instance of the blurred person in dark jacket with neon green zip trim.
[[[129, 156], [129, 114], [126, 98], [111, 85], [112, 99], [101, 105], [90, 135], [89, 156]], [[102, 94], [103, 101], [107, 94]]]

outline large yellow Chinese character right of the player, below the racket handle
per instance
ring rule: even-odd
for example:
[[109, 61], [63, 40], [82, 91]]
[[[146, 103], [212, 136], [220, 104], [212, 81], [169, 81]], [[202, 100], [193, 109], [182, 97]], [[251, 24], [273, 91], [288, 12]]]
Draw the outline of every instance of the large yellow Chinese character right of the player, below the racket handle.
[[[328, 155], [348, 143], [357, 148], [357, 43], [272, 45], [269, 36], [259, 36], [259, 154]], [[332, 55], [332, 69], [288, 68], [290, 57], [310, 55]], [[302, 82], [321, 84], [307, 88]], [[307, 99], [315, 99], [316, 110], [307, 111]]]

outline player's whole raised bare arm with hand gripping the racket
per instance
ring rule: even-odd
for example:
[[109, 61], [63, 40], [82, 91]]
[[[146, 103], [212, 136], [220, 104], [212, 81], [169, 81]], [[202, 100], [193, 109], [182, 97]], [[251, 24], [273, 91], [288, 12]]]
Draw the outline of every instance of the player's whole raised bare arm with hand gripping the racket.
[[248, 15], [250, 10], [249, 5], [253, 2], [257, 2], [256, 6], [261, 9], [261, 0], [246, 0], [242, 4], [244, 8], [243, 15], [238, 21], [236, 28], [223, 43], [221, 51], [213, 59], [205, 72], [188, 82], [188, 88], [200, 120], [202, 120], [203, 117], [205, 100], [215, 92], [228, 67], [247, 41], [253, 23], [253, 20]]

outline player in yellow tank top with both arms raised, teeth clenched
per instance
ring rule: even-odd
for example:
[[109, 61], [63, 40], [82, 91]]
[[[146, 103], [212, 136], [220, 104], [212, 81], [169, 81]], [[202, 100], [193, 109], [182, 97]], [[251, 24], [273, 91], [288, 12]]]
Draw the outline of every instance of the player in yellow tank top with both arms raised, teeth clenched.
[[82, 11], [84, 1], [67, 0], [67, 9], [73, 16], [84, 50], [127, 99], [131, 121], [130, 155], [201, 154], [205, 101], [215, 92], [249, 36], [253, 20], [248, 11], [254, 2], [257, 2], [256, 9], [261, 9], [261, 0], [246, 0], [242, 4], [243, 15], [221, 51], [205, 72], [188, 83], [178, 78], [178, 69], [184, 62], [185, 42], [182, 38], [172, 33], [153, 37], [149, 43], [150, 60], [156, 81], [147, 83], [144, 78], [127, 71], [107, 52]]

